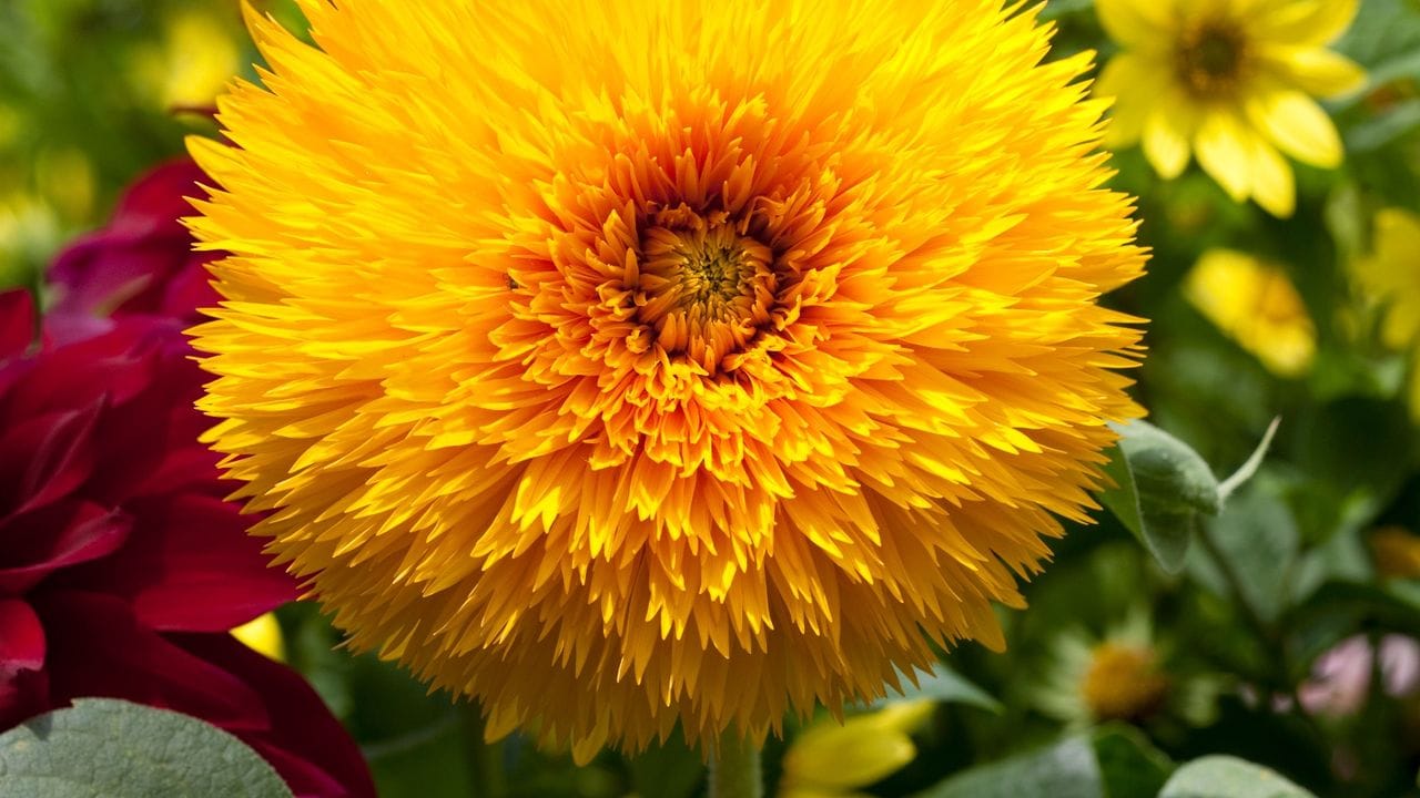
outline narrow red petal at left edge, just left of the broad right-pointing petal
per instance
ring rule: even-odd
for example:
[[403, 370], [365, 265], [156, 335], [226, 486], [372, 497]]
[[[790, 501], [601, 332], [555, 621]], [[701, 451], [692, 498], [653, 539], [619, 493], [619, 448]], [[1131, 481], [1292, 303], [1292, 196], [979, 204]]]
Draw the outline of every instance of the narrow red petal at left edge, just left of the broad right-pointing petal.
[[18, 594], [61, 568], [124, 545], [132, 518], [91, 501], [67, 501], [0, 520], [0, 591]]

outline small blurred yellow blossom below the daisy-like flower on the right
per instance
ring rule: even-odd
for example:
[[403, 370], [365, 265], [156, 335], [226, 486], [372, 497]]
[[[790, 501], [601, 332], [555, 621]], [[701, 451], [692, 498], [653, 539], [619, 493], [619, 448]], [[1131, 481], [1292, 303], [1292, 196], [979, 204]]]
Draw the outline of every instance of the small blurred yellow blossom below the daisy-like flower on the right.
[[1184, 295], [1224, 334], [1279, 376], [1301, 376], [1316, 355], [1316, 329], [1281, 268], [1247, 253], [1210, 250]]

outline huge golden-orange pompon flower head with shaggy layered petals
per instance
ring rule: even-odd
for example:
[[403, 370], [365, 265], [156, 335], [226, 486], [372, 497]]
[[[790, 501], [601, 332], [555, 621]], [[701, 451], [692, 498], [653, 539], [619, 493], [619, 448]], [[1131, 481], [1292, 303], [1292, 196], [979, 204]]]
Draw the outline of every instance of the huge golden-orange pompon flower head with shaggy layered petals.
[[304, 7], [193, 142], [196, 345], [354, 645], [586, 758], [1001, 643], [1139, 415], [1085, 57], [998, 0]]

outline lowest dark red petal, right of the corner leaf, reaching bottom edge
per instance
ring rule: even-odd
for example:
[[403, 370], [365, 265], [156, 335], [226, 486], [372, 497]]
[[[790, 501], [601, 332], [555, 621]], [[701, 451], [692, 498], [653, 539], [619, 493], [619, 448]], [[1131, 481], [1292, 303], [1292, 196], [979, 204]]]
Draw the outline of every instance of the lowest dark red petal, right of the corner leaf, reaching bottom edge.
[[[268, 757], [301, 797], [373, 798], [369, 767], [355, 741], [298, 673], [243, 646], [227, 635], [173, 635], [172, 639], [203, 659], [241, 677], [266, 701], [271, 726], [263, 734], [239, 737], [257, 750], [284, 751]], [[297, 768], [295, 763], [314, 765]], [[331, 782], [342, 787], [331, 789]]]

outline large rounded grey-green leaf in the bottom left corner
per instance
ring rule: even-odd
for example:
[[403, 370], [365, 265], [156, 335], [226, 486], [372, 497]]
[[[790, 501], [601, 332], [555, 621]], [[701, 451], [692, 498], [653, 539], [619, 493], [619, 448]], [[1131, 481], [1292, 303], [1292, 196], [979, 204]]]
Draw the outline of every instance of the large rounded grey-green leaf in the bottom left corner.
[[80, 699], [0, 736], [0, 798], [291, 798], [226, 731], [112, 699]]

